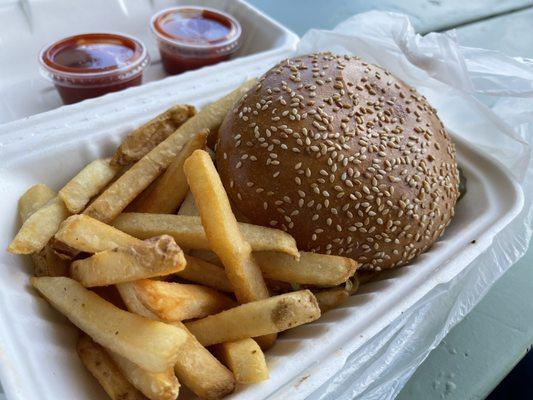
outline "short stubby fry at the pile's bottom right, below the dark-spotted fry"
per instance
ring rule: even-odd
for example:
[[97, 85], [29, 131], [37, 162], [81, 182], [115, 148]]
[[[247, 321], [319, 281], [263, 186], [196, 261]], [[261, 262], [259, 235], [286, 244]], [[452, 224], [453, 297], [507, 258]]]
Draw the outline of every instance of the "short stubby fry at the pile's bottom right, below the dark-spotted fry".
[[268, 379], [268, 367], [263, 351], [253, 339], [240, 339], [216, 345], [237, 383], [256, 383]]

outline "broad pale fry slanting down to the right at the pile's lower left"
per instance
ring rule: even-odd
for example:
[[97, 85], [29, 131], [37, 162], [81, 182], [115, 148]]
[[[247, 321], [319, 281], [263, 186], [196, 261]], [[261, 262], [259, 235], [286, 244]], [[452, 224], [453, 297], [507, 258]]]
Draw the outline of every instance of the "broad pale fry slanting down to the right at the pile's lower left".
[[31, 278], [31, 283], [100, 345], [149, 371], [174, 366], [186, 339], [180, 329], [121, 310], [70, 278]]

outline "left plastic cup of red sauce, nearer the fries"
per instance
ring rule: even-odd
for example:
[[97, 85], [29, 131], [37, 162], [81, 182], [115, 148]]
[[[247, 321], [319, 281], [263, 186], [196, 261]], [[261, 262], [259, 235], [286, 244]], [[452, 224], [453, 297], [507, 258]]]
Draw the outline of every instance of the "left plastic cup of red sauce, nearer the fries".
[[65, 104], [140, 85], [150, 58], [130, 36], [87, 33], [67, 37], [41, 51], [43, 75]]

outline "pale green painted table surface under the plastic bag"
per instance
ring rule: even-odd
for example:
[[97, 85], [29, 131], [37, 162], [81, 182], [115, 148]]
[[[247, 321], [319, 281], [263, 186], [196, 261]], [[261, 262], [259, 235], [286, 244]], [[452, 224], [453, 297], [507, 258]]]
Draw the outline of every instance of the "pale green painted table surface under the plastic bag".
[[[403, 12], [420, 33], [455, 29], [472, 47], [533, 58], [532, 0], [249, 0], [298, 35], [371, 9]], [[484, 399], [533, 344], [533, 246], [433, 350], [401, 400]]]

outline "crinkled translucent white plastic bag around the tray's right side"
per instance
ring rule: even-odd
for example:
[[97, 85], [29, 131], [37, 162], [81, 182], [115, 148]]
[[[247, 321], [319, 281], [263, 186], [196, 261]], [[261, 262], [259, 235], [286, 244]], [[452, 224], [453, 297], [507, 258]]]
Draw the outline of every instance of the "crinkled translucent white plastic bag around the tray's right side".
[[453, 33], [415, 34], [407, 16], [368, 12], [309, 31], [298, 53], [360, 56], [415, 86], [444, 124], [504, 164], [525, 194], [521, 214], [463, 272], [436, 286], [348, 358], [310, 398], [393, 399], [450, 329], [522, 257], [532, 234], [533, 62], [459, 46]]

